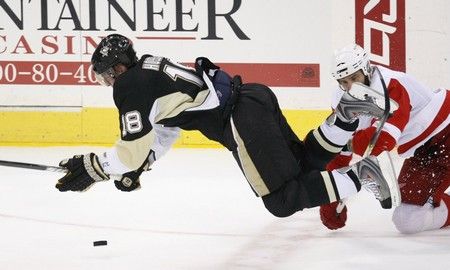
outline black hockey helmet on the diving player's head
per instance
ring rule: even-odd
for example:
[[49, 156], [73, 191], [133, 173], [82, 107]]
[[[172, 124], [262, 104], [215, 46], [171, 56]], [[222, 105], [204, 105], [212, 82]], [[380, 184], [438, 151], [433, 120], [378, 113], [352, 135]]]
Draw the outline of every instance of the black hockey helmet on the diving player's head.
[[[103, 38], [92, 54], [91, 64], [99, 82], [101, 76], [109, 75], [114, 78], [113, 67], [123, 64], [126, 67], [134, 66], [138, 59], [131, 40], [119, 34], [111, 34]], [[107, 72], [108, 74], [105, 74]], [[103, 84], [103, 83], [102, 83]]]

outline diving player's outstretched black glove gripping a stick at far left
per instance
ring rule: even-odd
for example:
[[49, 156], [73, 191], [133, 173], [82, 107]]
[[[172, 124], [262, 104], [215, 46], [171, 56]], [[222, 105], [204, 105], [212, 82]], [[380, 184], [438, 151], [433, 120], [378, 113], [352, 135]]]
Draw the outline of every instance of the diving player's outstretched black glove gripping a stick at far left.
[[109, 180], [109, 176], [103, 171], [94, 153], [73, 156], [61, 161], [59, 166], [68, 170], [55, 186], [62, 192], [86, 191], [95, 182]]

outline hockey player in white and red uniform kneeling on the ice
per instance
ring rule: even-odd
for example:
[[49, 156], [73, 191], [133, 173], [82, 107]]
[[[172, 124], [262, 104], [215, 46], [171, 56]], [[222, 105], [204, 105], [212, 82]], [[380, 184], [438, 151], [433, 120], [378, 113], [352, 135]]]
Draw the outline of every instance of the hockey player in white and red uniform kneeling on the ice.
[[[374, 72], [375, 68], [380, 72]], [[371, 152], [378, 156], [396, 148], [406, 158], [398, 177], [402, 203], [392, 217], [396, 228], [402, 233], [416, 233], [448, 226], [450, 195], [445, 191], [450, 185], [449, 90], [431, 90], [406, 73], [371, 65], [367, 52], [356, 44], [335, 53], [332, 69], [339, 84], [333, 108], [355, 82], [382, 91], [380, 74], [390, 98], [398, 103]], [[352, 153], [363, 155], [376, 123], [371, 117], [358, 118], [358, 130], [349, 144], [352, 149], [343, 149], [327, 169], [347, 166]], [[322, 223], [329, 229], [345, 226], [347, 209], [336, 215], [337, 205], [331, 203], [320, 208]]]

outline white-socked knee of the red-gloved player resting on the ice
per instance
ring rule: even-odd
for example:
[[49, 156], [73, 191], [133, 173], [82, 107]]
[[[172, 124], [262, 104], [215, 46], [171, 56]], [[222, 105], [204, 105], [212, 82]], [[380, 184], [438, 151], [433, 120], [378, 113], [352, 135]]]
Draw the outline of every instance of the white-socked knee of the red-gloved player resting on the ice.
[[423, 206], [402, 203], [395, 208], [392, 222], [401, 233], [418, 233], [425, 230], [427, 212]]

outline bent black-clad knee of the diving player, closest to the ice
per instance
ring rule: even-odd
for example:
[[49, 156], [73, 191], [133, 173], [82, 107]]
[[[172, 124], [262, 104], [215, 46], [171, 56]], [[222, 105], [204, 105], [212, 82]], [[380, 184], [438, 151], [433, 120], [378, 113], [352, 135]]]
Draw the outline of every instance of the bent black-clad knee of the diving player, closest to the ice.
[[299, 189], [297, 181], [289, 181], [278, 190], [263, 196], [264, 206], [276, 217], [288, 217], [305, 208]]

